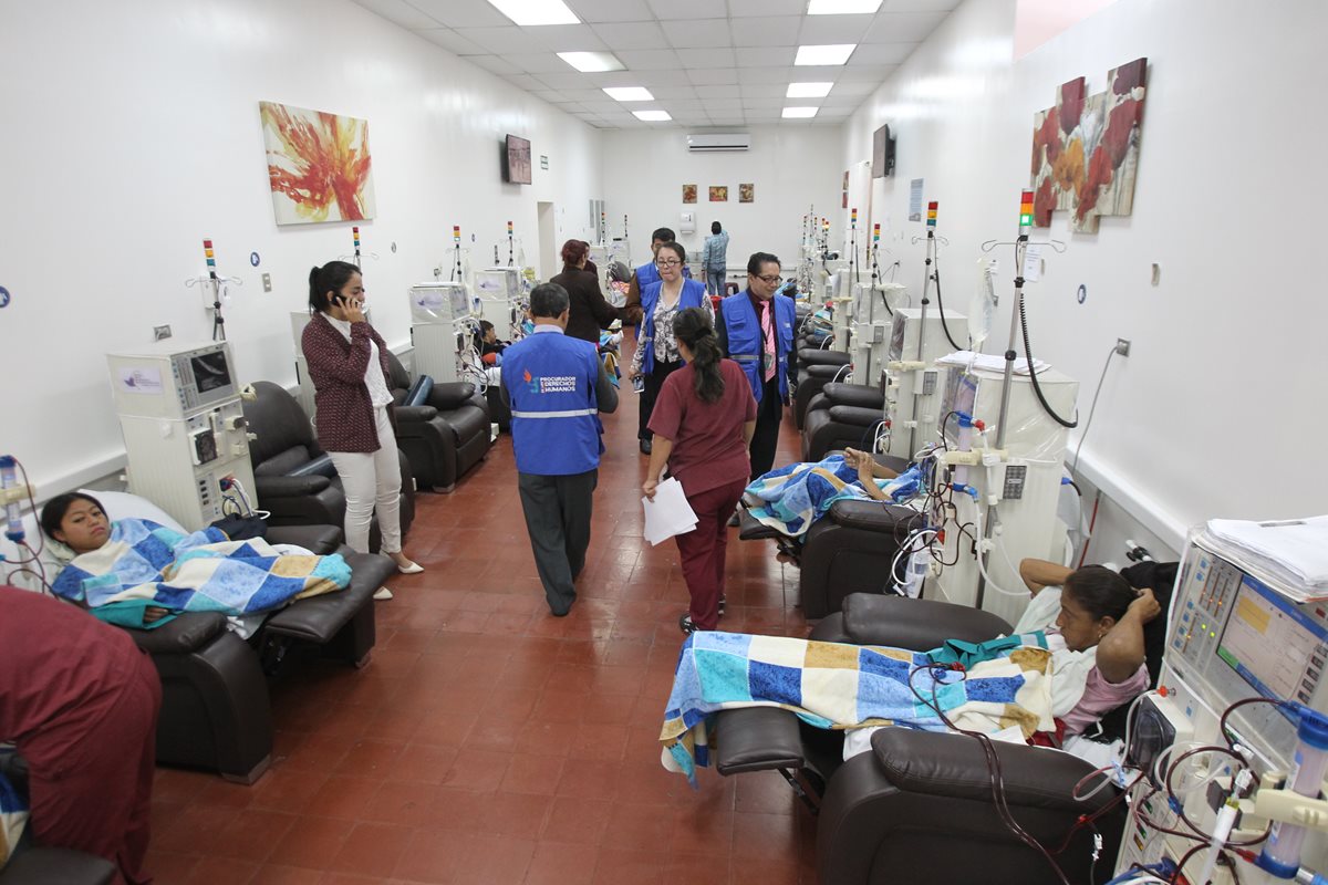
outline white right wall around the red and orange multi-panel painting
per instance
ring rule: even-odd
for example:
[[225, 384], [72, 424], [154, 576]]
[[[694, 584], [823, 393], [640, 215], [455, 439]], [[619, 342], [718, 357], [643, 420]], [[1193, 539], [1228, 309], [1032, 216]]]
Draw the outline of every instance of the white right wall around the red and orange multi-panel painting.
[[[1033, 113], [1060, 84], [1086, 76], [1100, 92], [1108, 69], [1146, 56], [1134, 214], [1090, 236], [1056, 215], [1050, 235], [1069, 248], [1048, 252], [1027, 291], [1035, 353], [1080, 379], [1086, 418], [1110, 346], [1133, 341], [1106, 378], [1081, 468], [1163, 543], [1212, 516], [1324, 512], [1325, 472], [1296, 455], [1328, 433], [1317, 292], [1328, 182], [1303, 159], [1328, 135], [1305, 103], [1308, 85], [1328, 81], [1328, 5], [1120, 0], [1017, 62], [1013, 28], [1013, 0], [961, 5], [850, 118], [846, 162], [870, 157], [872, 130], [891, 125], [898, 165], [878, 180], [878, 204], [896, 232], [918, 234], [903, 222], [908, 180], [926, 179], [951, 241], [947, 305], [963, 309], [979, 244], [1017, 234]], [[920, 247], [890, 245], [919, 285]], [[997, 255], [1009, 296], [1011, 251]], [[1005, 348], [1012, 301], [988, 353]], [[1118, 560], [1110, 547], [1101, 556]]]

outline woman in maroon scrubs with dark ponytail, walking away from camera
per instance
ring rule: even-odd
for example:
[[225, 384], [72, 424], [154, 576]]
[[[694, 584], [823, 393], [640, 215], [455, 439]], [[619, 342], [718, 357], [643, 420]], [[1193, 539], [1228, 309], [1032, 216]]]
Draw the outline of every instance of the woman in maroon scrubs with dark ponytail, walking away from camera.
[[742, 368], [724, 358], [705, 310], [681, 310], [673, 336], [687, 365], [664, 379], [655, 402], [649, 422], [655, 446], [641, 491], [653, 500], [667, 466], [696, 513], [696, 528], [676, 536], [692, 596], [691, 610], [677, 625], [692, 633], [718, 626], [728, 519], [752, 471], [748, 443], [756, 431], [756, 399]]

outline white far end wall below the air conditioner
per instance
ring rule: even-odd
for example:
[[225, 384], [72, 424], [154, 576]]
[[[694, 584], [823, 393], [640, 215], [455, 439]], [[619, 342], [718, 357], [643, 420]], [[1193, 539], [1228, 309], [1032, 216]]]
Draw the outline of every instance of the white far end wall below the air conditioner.
[[[679, 231], [679, 216], [696, 212], [696, 234], [679, 234], [688, 259], [699, 257], [710, 222], [729, 232], [729, 267], [745, 268], [753, 252], [773, 252], [786, 268], [797, 261], [802, 216], [839, 206], [842, 126], [744, 127], [752, 149], [692, 154], [681, 129], [607, 130], [604, 195], [610, 235], [631, 224], [632, 261], [649, 257], [651, 231]], [[756, 202], [738, 203], [738, 184], [756, 184]], [[683, 184], [697, 186], [697, 202], [683, 203]], [[709, 187], [726, 184], [729, 200], [710, 203]], [[835, 216], [831, 216], [835, 218]], [[838, 227], [838, 222], [835, 222]]]

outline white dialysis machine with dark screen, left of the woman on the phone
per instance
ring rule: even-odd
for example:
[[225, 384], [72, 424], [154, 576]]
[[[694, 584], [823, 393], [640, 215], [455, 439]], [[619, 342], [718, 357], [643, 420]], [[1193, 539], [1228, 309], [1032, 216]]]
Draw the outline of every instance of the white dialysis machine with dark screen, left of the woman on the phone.
[[[198, 531], [223, 516], [223, 491], [254, 494], [235, 360], [224, 341], [163, 341], [106, 356], [125, 437], [129, 491]], [[222, 483], [226, 480], [226, 488]], [[258, 502], [250, 498], [254, 507]]]

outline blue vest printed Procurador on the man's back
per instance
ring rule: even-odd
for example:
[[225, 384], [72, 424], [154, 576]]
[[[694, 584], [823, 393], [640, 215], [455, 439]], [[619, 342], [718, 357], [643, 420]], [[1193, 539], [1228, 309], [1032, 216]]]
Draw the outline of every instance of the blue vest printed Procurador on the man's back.
[[595, 345], [556, 332], [530, 334], [503, 352], [517, 470], [570, 476], [599, 467]]

